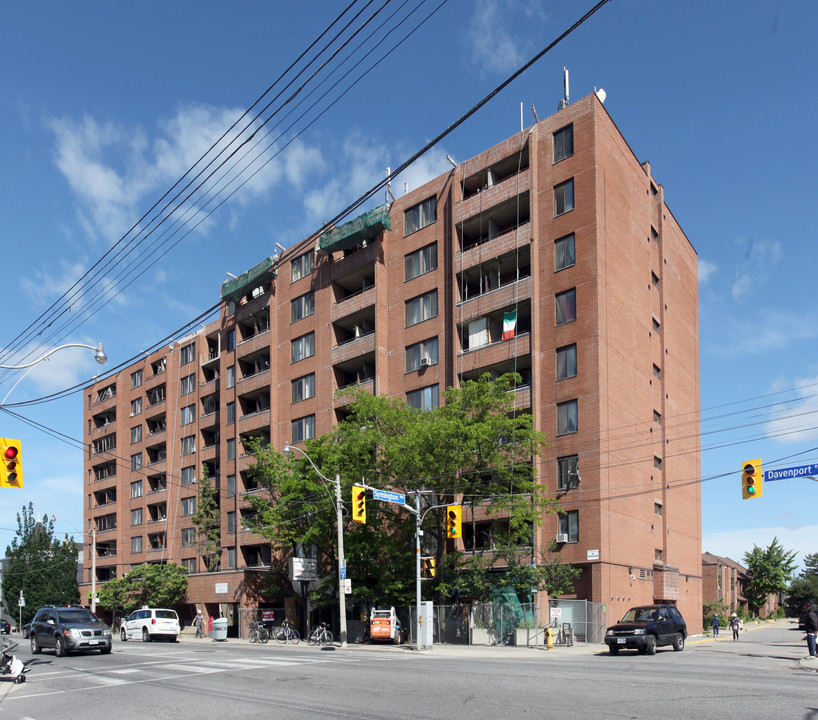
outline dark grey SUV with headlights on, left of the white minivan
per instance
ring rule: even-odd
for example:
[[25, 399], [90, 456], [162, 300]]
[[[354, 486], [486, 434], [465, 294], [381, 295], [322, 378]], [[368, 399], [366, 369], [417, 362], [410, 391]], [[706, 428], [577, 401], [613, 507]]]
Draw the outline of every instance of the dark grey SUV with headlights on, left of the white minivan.
[[31, 621], [31, 652], [54, 648], [62, 657], [74, 650], [111, 652], [111, 630], [94, 613], [84, 607], [46, 605]]

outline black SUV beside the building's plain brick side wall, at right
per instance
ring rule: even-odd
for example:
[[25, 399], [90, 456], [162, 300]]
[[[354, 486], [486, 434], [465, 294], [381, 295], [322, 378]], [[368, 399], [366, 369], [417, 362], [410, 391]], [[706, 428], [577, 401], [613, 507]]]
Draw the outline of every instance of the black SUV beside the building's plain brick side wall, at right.
[[622, 648], [655, 655], [659, 645], [684, 650], [686, 637], [687, 623], [675, 606], [642, 605], [628, 610], [625, 617], [608, 628], [605, 644], [611, 655], [617, 655]]

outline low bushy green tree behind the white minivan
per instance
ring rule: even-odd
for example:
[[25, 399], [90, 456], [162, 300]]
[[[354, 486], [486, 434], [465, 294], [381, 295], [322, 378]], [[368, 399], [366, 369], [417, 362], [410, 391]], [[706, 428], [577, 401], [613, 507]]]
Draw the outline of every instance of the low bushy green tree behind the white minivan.
[[125, 615], [141, 608], [173, 607], [187, 592], [187, 573], [176, 563], [144, 564], [131, 568], [124, 578], [109, 580], [99, 589], [100, 607], [121, 609]]

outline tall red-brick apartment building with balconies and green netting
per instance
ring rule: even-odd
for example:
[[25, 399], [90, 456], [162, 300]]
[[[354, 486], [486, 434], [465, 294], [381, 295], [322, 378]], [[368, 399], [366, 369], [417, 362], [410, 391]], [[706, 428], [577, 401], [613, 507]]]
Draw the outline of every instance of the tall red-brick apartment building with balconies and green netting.
[[[174, 560], [191, 603], [255, 607], [270, 554], [242, 530], [242, 438], [319, 436], [350, 384], [422, 409], [515, 370], [563, 508], [536, 548], [557, 540], [582, 569], [575, 597], [609, 619], [667, 601], [699, 627], [697, 257], [596, 95], [268, 258], [221, 298], [218, 321], [86, 390], [98, 581]], [[217, 573], [190, 520], [202, 463], [220, 489]], [[464, 549], [483, 547], [490, 527], [467, 520]]]

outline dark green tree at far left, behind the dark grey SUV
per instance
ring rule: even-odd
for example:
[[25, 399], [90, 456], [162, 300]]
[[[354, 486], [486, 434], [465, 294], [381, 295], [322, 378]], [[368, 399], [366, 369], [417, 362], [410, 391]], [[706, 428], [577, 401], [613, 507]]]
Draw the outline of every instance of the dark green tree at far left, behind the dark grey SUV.
[[17, 533], [6, 548], [3, 597], [9, 613], [18, 617], [20, 591], [26, 600], [22, 621], [28, 622], [43, 605], [67, 605], [79, 601], [77, 546], [65, 536], [54, 537], [54, 521], [34, 515], [34, 505], [17, 514]]

